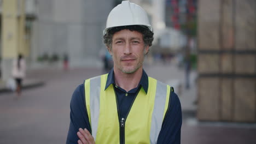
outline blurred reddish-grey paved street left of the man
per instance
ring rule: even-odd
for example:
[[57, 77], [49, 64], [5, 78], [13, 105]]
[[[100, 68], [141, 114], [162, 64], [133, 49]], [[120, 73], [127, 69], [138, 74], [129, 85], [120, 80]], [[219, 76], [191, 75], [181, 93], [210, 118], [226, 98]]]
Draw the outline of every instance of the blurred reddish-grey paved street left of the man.
[[0, 143], [65, 143], [71, 95], [83, 79], [100, 75], [97, 69], [33, 71], [42, 87], [25, 89], [22, 97], [0, 95]]

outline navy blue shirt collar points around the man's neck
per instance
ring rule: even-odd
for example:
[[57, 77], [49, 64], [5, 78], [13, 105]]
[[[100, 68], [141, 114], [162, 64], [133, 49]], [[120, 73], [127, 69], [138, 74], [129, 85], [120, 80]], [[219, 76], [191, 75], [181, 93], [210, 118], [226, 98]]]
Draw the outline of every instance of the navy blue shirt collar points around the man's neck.
[[[114, 79], [114, 69], [112, 68], [109, 73], [108, 73], [108, 78], [107, 78], [107, 83], [106, 83], [106, 87], [105, 90], [111, 85], [111, 84], [115, 85], [115, 79]], [[146, 94], [148, 93], [148, 75], [146, 74], [146, 72], [143, 69], [142, 72], [142, 77], [141, 77], [141, 81], [139, 81], [138, 86], [142, 86], [144, 91], [146, 92]]]

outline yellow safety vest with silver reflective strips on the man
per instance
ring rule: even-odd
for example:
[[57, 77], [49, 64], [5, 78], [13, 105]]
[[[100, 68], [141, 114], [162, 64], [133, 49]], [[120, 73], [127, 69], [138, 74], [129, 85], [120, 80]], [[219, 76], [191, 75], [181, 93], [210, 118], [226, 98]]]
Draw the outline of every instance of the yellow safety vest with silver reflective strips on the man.
[[148, 92], [141, 88], [126, 118], [119, 117], [108, 74], [84, 82], [85, 103], [96, 143], [156, 143], [168, 108], [170, 86], [148, 77]]

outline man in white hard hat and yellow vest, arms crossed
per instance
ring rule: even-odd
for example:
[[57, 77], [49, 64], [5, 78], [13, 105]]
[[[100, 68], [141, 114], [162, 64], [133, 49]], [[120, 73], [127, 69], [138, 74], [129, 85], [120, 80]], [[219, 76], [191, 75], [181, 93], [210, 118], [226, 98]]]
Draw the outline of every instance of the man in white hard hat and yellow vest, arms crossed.
[[75, 89], [67, 143], [181, 142], [177, 95], [142, 67], [152, 41], [153, 29], [138, 5], [123, 1], [109, 13], [104, 43], [114, 67]]

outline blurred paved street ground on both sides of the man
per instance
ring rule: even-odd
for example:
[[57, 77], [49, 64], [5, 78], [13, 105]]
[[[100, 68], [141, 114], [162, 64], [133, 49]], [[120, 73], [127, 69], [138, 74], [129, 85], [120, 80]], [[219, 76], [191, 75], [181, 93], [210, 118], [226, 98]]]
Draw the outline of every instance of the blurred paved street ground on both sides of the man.
[[[144, 69], [149, 76], [174, 83], [183, 109], [182, 143], [256, 143], [255, 124], [196, 120], [195, 71], [190, 89], [185, 89], [184, 71], [174, 65], [146, 65]], [[24, 89], [20, 98], [11, 92], [0, 93], [0, 143], [65, 143], [74, 89], [100, 74], [97, 68], [31, 70], [27, 79], [43, 80], [44, 85]]]

